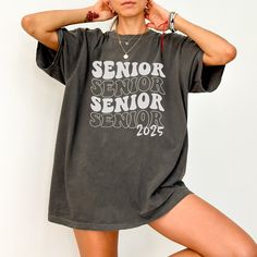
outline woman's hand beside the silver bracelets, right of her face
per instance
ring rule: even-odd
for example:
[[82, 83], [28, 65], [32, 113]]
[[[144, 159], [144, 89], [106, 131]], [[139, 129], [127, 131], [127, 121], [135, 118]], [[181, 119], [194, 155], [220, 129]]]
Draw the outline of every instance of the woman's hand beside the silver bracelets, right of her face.
[[147, 9], [145, 12], [145, 19], [147, 19], [150, 23], [147, 23], [147, 27], [151, 27], [156, 30], [167, 30], [169, 29], [169, 15], [170, 12], [154, 2], [152, 0], [148, 0]]

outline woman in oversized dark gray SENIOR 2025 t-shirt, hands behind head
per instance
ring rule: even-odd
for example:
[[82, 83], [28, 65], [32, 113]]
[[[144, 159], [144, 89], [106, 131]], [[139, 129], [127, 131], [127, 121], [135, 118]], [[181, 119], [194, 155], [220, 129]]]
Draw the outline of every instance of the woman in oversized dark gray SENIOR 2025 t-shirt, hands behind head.
[[[63, 27], [112, 17], [106, 33]], [[73, 228], [81, 256], [118, 256], [119, 230], [142, 224], [186, 246], [171, 256], [257, 256], [182, 180], [187, 94], [218, 87], [233, 45], [152, 0], [99, 0], [22, 26], [38, 40], [38, 66], [65, 85], [48, 219]]]

